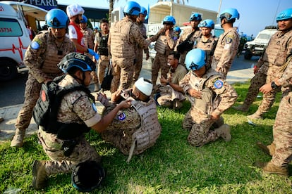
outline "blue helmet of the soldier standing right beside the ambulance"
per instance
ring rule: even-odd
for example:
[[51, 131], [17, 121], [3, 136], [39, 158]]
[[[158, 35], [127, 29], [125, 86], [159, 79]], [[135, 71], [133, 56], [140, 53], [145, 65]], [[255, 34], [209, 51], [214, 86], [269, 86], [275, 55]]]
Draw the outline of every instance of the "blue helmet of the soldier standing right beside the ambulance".
[[46, 15], [46, 22], [49, 27], [65, 28], [69, 24], [67, 14], [59, 8], [53, 8]]

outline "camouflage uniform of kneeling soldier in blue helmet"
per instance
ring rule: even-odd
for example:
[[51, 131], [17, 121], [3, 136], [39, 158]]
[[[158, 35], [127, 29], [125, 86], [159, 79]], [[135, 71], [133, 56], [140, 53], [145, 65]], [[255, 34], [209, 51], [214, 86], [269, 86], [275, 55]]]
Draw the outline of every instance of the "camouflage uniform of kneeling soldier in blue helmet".
[[199, 78], [192, 71], [181, 80], [180, 86], [185, 93], [188, 89], [202, 91], [202, 99], [196, 98], [183, 119], [183, 128], [190, 130], [188, 142], [201, 146], [219, 138], [216, 131], [210, 130], [215, 120], [210, 119], [212, 112], [221, 115], [236, 102], [237, 93], [218, 72], [210, 69]]

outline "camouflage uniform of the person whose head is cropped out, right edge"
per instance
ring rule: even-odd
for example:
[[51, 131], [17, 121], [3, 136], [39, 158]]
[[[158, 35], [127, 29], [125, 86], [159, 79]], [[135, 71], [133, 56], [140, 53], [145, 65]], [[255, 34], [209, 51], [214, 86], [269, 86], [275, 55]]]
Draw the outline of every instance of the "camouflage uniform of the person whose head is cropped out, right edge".
[[277, 167], [288, 167], [292, 160], [292, 60], [278, 82], [283, 93], [273, 127], [276, 148], [271, 162]]

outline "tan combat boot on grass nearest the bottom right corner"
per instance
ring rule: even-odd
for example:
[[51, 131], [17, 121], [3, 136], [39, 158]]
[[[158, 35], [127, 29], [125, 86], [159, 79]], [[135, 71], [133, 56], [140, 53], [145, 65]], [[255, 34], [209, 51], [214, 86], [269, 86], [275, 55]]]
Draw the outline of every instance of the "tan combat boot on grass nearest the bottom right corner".
[[268, 174], [279, 174], [279, 175], [284, 175], [288, 176], [288, 166], [286, 167], [277, 167], [275, 164], [272, 162], [255, 162], [254, 165], [256, 167], [262, 168], [262, 171]]

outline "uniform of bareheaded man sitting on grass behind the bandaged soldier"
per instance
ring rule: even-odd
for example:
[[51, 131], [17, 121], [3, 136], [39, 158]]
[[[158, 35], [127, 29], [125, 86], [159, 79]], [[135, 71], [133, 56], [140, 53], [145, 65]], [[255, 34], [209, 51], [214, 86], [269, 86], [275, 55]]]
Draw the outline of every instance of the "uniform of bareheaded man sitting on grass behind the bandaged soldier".
[[[173, 84], [179, 84], [181, 79], [185, 77], [187, 70], [183, 65], [178, 64], [178, 67], [176, 67], [176, 70], [174, 72], [171, 72], [172, 70], [169, 70], [169, 75], [171, 77], [171, 83]], [[160, 86], [159, 87], [159, 93], [160, 97], [157, 98], [157, 102], [161, 106], [165, 107], [171, 107], [173, 105], [174, 99], [178, 99], [178, 101], [185, 101], [184, 93], [181, 93], [179, 91], [175, 91], [171, 86]]]

